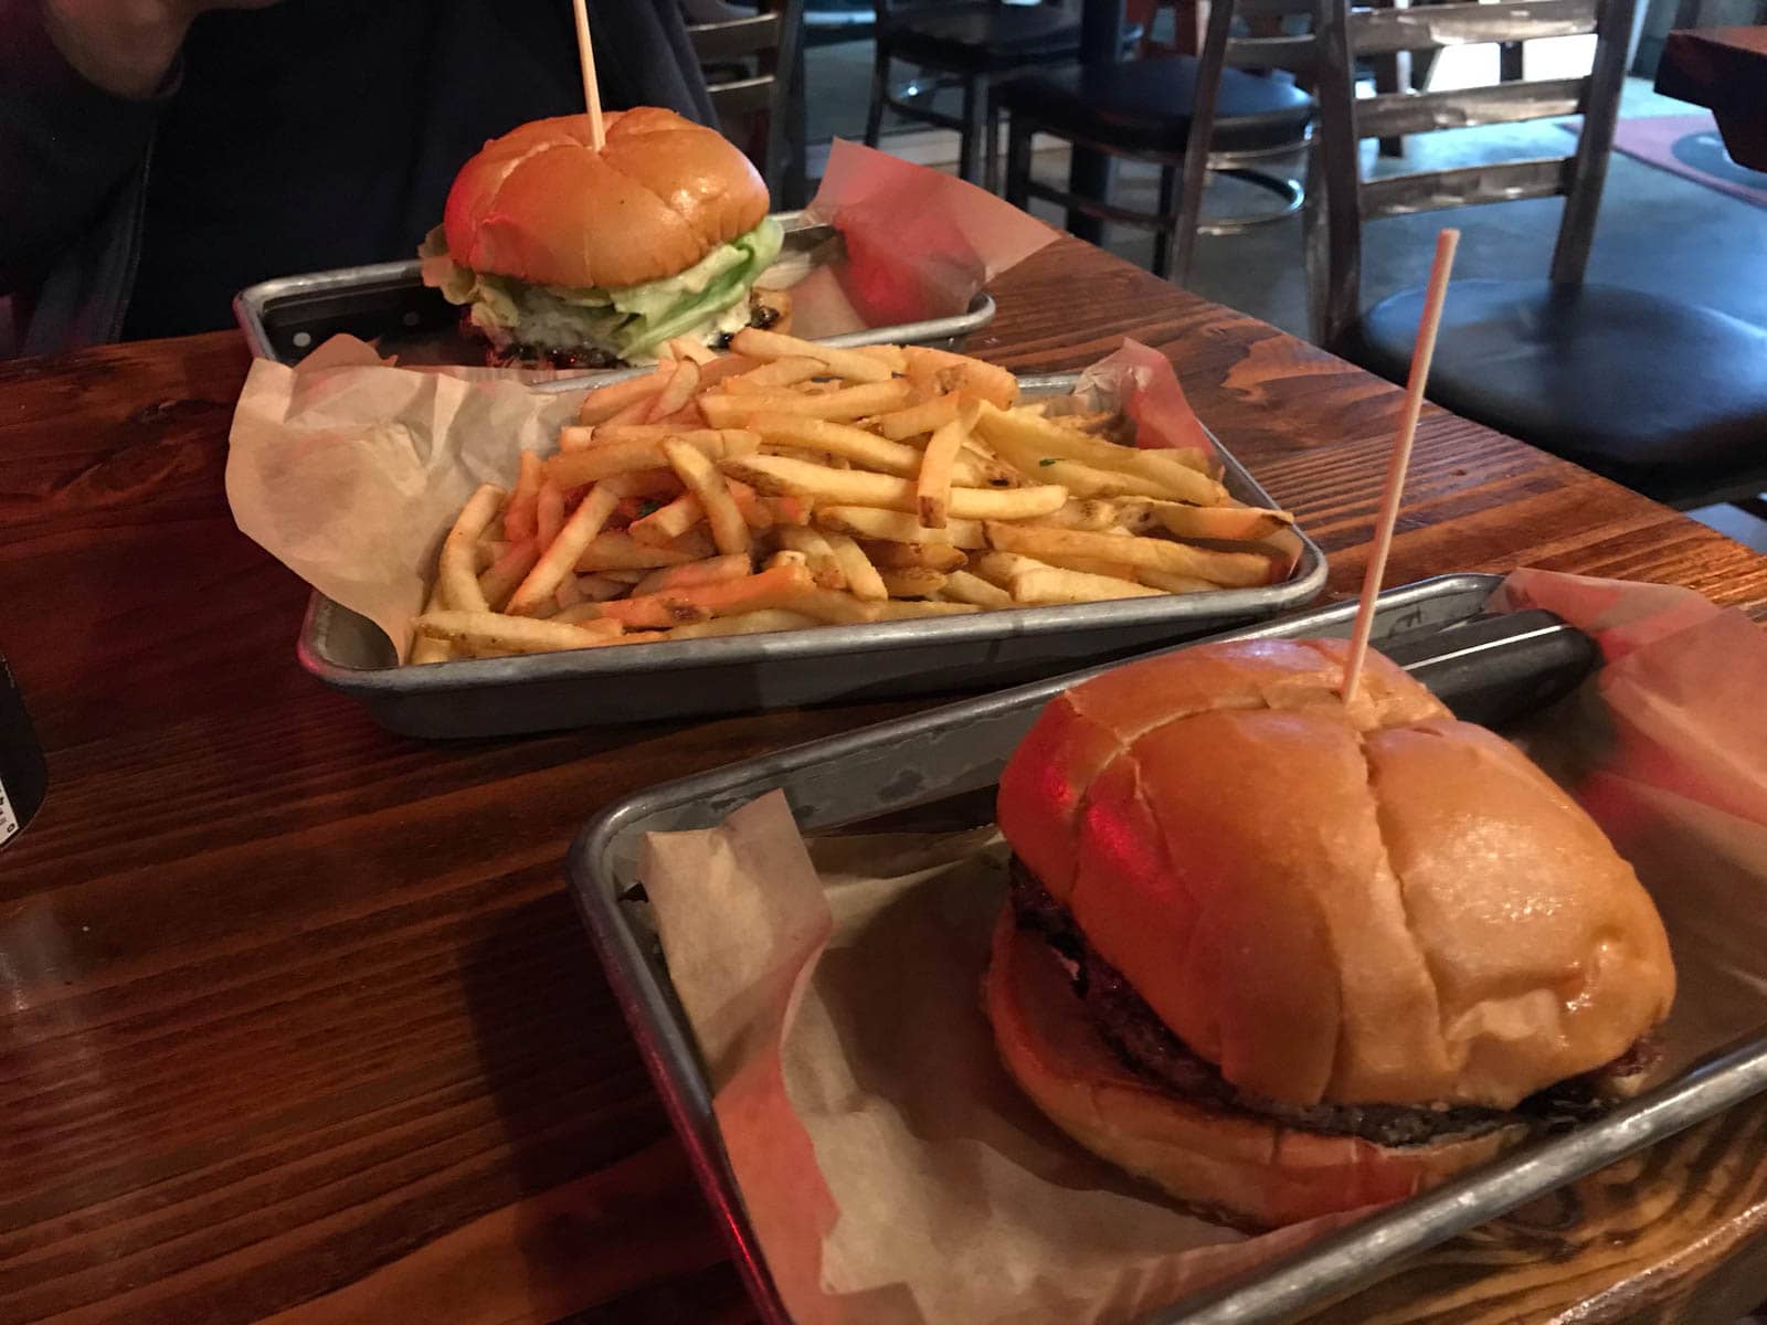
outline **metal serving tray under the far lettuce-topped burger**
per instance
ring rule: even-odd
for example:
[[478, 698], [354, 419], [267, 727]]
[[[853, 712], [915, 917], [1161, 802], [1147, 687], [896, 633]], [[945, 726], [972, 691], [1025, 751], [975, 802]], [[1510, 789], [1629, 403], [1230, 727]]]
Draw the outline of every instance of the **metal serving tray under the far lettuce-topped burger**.
[[[839, 231], [811, 221], [802, 212], [779, 212], [785, 246], [769, 270], [802, 267], [809, 272], [839, 253]], [[396, 353], [403, 364], [484, 364], [484, 344], [459, 332], [459, 307], [426, 286], [419, 276], [422, 263], [382, 261], [371, 267], [341, 267], [307, 276], [283, 276], [260, 281], [233, 297], [233, 318], [246, 334], [246, 344], [258, 359], [299, 364], [306, 355], [337, 334], [373, 341], [382, 353]], [[977, 293], [965, 313], [892, 327], [869, 327], [845, 336], [823, 337], [827, 344], [933, 344], [961, 348], [963, 337], [993, 322], [991, 295]], [[631, 369], [585, 371], [583, 378], [604, 380]]]

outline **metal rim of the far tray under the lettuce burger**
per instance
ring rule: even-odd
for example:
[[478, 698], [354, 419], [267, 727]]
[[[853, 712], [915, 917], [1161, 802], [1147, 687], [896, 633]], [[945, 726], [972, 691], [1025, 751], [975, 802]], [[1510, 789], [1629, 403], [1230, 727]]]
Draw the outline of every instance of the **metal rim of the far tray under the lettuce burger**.
[[[793, 233], [799, 230], [815, 230], [818, 226], [834, 230], [830, 221], [822, 221], [804, 210], [774, 212], [772, 219], [785, 226], [786, 231]], [[359, 267], [330, 267], [318, 272], [274, 276], [267, 281], [249, 284], [233, 295], [233, 322], [246, 337], [246, 344], [251, 350], [253, 359], [269, 359], [276, 364], [293, 366], [300, 360], [283, 359], [276, 353], [276, 346], [270, 343], [270, 332], [265, 318], [272, 300], [327, 290], [348, 290], [357, 284], [421, 284], [421, 272], [422, 260], [396, 258], [392, 261], [362, 263]], [[963, 313], [952, 313], [944, 318], [922, 318], [919, 322], [899, 322], [887, 327], [864, 327], [855, 332], [841, 332], [839, 336], [822, 336], [816, 339], [818, 343], [830, 344], [838, 350], [853, 350], [862, 344], [882, 344], [889, 341], [908, 344], [944, 341], [981, 330], [995, 320], [997, 313], [998, 304], [995, 304], [993, 295], [986, 290], [977, 290], [970, 297], [970, 304]], [[472, 364], [466, 364], [466, 367], [472, 367]], [[535, 385], [539, 390], [574, 390], [585, 382], [606, 385], [610, 382], [618, 382], [648, 371], [650, 369], [647, 366], [608, 367], [601, 371], [573, 373], [571, 376], [551, 378]]]

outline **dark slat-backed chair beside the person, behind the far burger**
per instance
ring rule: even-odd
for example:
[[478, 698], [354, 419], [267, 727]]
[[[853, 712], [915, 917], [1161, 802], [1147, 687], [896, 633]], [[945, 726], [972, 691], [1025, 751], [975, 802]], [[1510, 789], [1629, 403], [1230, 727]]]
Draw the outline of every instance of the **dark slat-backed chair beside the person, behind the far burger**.
[[774, 198], [802, 207], [804, 155], [804, 0], [762, 0], [747, 9], [717, 5], [719, 16], [689, 21], [687, 37], [705, 71], [712, 108]]

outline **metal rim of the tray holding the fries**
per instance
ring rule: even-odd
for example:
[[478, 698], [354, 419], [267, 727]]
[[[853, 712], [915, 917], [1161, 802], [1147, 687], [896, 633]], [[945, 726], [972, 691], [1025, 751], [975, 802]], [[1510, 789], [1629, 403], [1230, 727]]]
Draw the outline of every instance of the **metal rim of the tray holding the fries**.
[[[1021, 389], [1050, 394], [1069, 390], [1078, 373], [1018, 375]], [[1207, 429], [1221, 452], [1221, 463], [1233, 484], [1255, 504], [1269, 505], [1270, 496], [1233, 452]], [[318, 590], [307, 599], [295, 655], [320, 682], [353, 694], [422, 694], [514, 685], [537, 680], [620, 677], [633, 671], [691, 671], [712, 666], [808, 662], [884, 650], [933, 645], [995, 643], [1018, 636], [1066, 634], [1071, 631], [1136, 629], [1179, 625], [1187, 620], [1255, 617], [1262, 611], [1283, 613], [1313, 602], [1325, 588], [1329, 562], [1313, 537], [1295, 525], [1301, 558], [1281, 585], [1258, 588], [1223, 588], [1209, 594], [1166, 594], [1115, 602], [1080, 602], [1066, 606], [1004, 608], [956, 617], [922, 617], [901, 622], [866, 622], [859, 625], [818, 625], [769, 634], [680, 640], [622, 648], [581, 648], [558, 654], [516, 657], [449, 659], [426, 666], [355, 668], [325, 655], [323, 622], [339, 604]], [[634, 662], [636, 659], [636, 662]]]

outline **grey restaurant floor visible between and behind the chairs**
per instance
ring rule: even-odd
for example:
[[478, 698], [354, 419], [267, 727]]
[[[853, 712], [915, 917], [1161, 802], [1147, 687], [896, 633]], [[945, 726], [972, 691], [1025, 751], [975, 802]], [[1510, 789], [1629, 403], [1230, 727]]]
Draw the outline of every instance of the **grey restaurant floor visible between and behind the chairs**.
[[[1580, 48], [1581, 41], [1585, 39], [1534, 42], [1528, 49], [1528, 78], [1587, 72], [1589, 51], [1587, 46]], [[1493, 48], [1451, 51], [1435, 85], [1486, 81], [1490, 71], [1483, 67], [1484, 62], [1495, 64]], [[869, 42], [809, 51], [811, 141], [825, 141], [836, 134], [861, 136], [869, 67]], [[903, 76], [906, 72], [903, 69]], [[1647, 80], [1627, 80], [1622, 117], [1693, 111], [1684, 102], [1659, 97]], [[1574, 127], [1574, 120], [1571, 124]], [[1569, 140], [1571, 132], [1560, 122], [1536, 122], [1410, 138], [1403, 161], [1376, 159], [1373, 143], [1364, 150], [1373, 171], [1380, 173], [1562, 155]], [[944, 131], [887, 134], [885, 147], [922, 164], [954, 168], [956, 163], [956, 136]], [[822, 152], [813, 152], [813, 175], [820, 171], [820, 164]], [[1051, 147], [1037, 152], [1034, 171], [1055, 180], [1066, 175], [1066, 150]], [[1119, 168], [1117, 189], [1119, 201], [1150, 208], [1154, 173], [1150, 168], [1124, 164]], [[1248, 186], [1226, 180], [1212, 191], [1209, 210], [1256, 210], [1265, 205], [1263, 198]], [[1394, 290], [1421, 284], [1430, 270], [1435, 231], [1444, 224], [1461, 228], [1456, 277], [1544, 276], [1560, 207], [1557, 200], [1530, 200], [1380, 221], [1369, 226], [1364, 244], [1362, 297], [1371, 304]], [[1034, 203], [1032, 210], [1060, 223], [1053, 207]], [[1108, 235], [1106, 247], [1145, 265], [1152, 240], [1119, 228]], [[1689, 299], [1767, 327], [1767, 208], [1615, 152], [1589, 279]], [[1189, 284], [1200, 295], [1306, 336], [1299, 219], [1276, 221], [1237, 237], [1203, 238]], [[1733, 507], [1693, 514], [1767, 551], [1767, 523]]]

